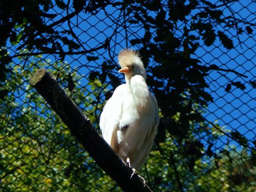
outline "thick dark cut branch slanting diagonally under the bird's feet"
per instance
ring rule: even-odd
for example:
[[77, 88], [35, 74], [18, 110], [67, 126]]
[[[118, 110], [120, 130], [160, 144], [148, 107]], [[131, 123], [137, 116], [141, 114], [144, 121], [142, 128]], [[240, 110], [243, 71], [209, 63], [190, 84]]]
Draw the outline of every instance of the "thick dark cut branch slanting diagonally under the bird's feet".
[[125, 166], [109, 144], [99, 136], [90, 119], [77, 108], [45, 69], [36, 71], [29, 82], [46, 99], [90, 156], [124, 191], [152, 191], [147, 185], [144, 186], [137, 174], [131, 178], [133, 170]]

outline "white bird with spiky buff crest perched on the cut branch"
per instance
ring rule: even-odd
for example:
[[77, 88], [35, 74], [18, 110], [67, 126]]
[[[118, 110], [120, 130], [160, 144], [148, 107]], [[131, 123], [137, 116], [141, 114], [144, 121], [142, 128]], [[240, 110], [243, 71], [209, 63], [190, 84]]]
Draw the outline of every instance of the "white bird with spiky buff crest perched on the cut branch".
[[150, 154], [159, 123], [158, 105], [147, 87], [139, 53], [125, 49], [118, 60], [126, 83], [106, 102], [100, 129], [105, 141], [135, 173]]

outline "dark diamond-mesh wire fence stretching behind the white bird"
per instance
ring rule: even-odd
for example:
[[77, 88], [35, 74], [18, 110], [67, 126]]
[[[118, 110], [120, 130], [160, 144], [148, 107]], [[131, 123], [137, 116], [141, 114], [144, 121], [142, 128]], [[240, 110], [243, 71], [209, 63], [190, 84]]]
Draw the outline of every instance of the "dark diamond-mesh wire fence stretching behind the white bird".
[[[55, 45], [58, 51], [51, 44], [53, 35], [46, 33], [43, 35], [49, 37], [49, 44], [45, 45], [45, 50], [24, 46], [25, 41], [20, 37], [27, 33], [26, 27], [18, 26], [14, 29], [18, 40], [13, 43], [10, 37], [6, 47], [1, 48], [8, 51], [7, 55], [14, 56], [6, 63], [8, 70], [1, 86], [4, 90], [1, 94], [6, 93], [0, 99], [1, 191], [121, 191], [28, 82], [37, 69], [47, 69], [98, 129], [104, 103], [113, 90], [124, 83], [123, 76], [117, 73], [117, 54], [126, 47], [142, 49], [145, 42], [136, 39], [146, 35], [156, 37], [151, 38], [151, 43], [158, 45], [157, 34], [160, 32], [156, 28], [147, 30], [146, 24], [138, 22], [139, 10], [131, 8], [132, 4], [146, 7], [154, 1], [145, 4], [124, 1], [124, 8], [121, 3], [114, 6], [111, 2], [112, 5], [99, 6], [95, 10], [90, 9], [93, 9], [93, 3], [98, 5], [97, 1], [88, 2], [82, 11], [77, 11], [79, 8], [72, 1], [55, 1], [50, 6], [48, 13], [55, 16], [44, 17], [42, 22], [59, 32], [62, 41]], [[182, 1], [162, 1], [163, 11], [168, 13], [168, 5], [178, 2]], [[184, 2], [184, 5], [189, 4]], [[255, 191], [256, 4], [247, 0], [211, 1], [207, 5], [204, 4], [207, 1], [199, 2], [198, 9], [172, 26], [175, 37], [183, 39], [193, 16], [203, 13], [208, 6], [222, 11], [222, 18], [230, 18], [230, 23], [237, 22], [233, 28], [212, 22], [216, 31], [225, 32], [232, 40], [233, 47], [227, 49], [228, 42], [225, 44], [218, 38], [212, 40], [212, 45], [207, 45], [207, 37], [202, 38], [200, 31], [191, 32], [198, 38], [198, 47], [191, 58], [198, 59], [200, 66], [222, 69], [209, 70], [204, 76], [208, 84], [204, 91], [212, 100], [209, 99], [207, 104], [193, 103], [192, 108], [202, 114], [204, 120], [189, 120], [189, 128], [184, 133], [185, 128], [173, 128], [179, 124], [182, 112], [167, 118], [164, 115], [165, 100], [157, 98], [161, 115], [158, 135], [150, 157], [138, 174], [153, 191]], [[44, 5], [39, 8], [46, 9]], [[65, 22], [58, 22], [74, 12]], [[145, 12], [152, 18], [158, 16], [158, 10], [148, 8]], [[175, 14], [179, 13], [173, 10], [171, 15]], [[34, 42], [43, 39], [40, 35], [32, 38]], [[74, 42], [73, 47], [70, 40]], [[168, 49], [166, 47], [166, 54]], [[184, 49], [183, 46], [176, 48]], [[142, 60], [148, 72], [148, 85], [156, 92], [157, 84], [154, 83], [161, 79], [154, 77], [154, 69], [161, 65], [161, 61], [156, 56], [146, 57], [147, 51], [151, 54], [150, 49], [141, 50]], [[178, 68], [175, 73], [179, 75]], [[197, 74], [193, 75], [196, 78]], [[167, 83], [166, 79], [162, 80], [163, 84]], [[170, 87], [176, 90], [178, 84], [176, 86], [172, 84]], [[156, 97], [159, 95], [158, 92], [155, 94]], [[186, 94], [188, 92], [183, 92], [181, 98], [188, 97]], [[169, 95], [170, 100], [173, 95]], [[183, 104], [189, 105], [188, 100]]]

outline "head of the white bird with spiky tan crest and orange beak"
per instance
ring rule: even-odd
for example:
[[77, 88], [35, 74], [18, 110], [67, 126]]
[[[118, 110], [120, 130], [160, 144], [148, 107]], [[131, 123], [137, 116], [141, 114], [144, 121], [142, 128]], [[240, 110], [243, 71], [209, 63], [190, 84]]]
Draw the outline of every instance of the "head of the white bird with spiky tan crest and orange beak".
[[125, 74], [125, 80], [130, 79], [134, 75], [141, 75], [146, 79], [146, 72], [138, 51], [124, 49], [119, 53], [118, 61], [122, 68], [119, 72]]

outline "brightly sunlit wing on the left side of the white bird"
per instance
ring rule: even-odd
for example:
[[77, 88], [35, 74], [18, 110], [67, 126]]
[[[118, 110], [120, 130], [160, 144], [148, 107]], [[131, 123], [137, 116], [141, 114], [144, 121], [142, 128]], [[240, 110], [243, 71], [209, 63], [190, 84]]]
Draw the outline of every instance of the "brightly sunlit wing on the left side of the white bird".
[[123, 89], [125, 89], [124, 84], [116, 88], [112, 97], [106, 102], [100, 115], [100, 129], [102, 136], [116, 152], [118, 151], [119, 145], [117, 131], [122, 113]]

